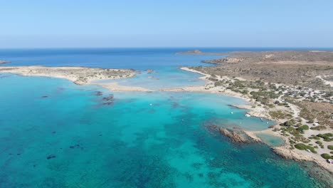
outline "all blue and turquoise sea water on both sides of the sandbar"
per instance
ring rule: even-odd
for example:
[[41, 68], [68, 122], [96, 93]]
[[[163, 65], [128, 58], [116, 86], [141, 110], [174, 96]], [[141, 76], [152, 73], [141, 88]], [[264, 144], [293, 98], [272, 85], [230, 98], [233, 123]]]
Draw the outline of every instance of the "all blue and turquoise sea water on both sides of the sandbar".
[[[0, 50], [0, 60], [12, 61], [4, 66], [134, 68], [142, 74], [128, 85], [179, 87], [203, 84], [200, 75], [179, 71], [180, 66], [210, 66], [200, 61], [218, 58], [175, 55], [192, 49]], [[159, 80], [148, 78], [147, 69]], [[310, 177], [304, 164], [283, 160], [266, 145], [239, 145], [211, 131], [210, 125], [245, 130], [273, 125], [229, 106], [245, 103], [238, 98], [112, 93], [8, 73], [0, 74], [0, 88], [1, 188], [327, 186]], [[114, 100], [103, 99], [111, 95]]]

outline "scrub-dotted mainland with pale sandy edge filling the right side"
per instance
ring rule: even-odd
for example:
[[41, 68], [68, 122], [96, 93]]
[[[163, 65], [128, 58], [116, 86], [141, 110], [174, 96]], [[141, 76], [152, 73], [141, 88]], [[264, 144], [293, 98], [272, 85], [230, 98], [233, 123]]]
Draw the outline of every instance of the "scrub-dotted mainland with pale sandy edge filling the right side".
[[[177, 54], [227, 56], [203, 63], [216, 66], [181, 68], [200, 73], [205, 86], [167, 89], [222, 93], [248, 100], [248, 116], [265, 117], [277, 125], [257, 133], [282, 137], [273, 150], [294, 160], [311, 160], [333, 172], [333, 51], [240, 51]], [[225, 132], [225, 131], [223, 131]], [[221, 133], [223, 133], [221, 132]], [[232, 135], [228, 133], [228, 135]]]

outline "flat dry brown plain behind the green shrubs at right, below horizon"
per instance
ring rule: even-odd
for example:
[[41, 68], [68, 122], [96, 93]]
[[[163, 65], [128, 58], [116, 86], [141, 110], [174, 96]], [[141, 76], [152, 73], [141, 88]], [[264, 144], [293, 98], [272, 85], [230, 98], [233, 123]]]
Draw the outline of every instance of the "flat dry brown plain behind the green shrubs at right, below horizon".
[[333, 53], [330, 51], [233, 52], [224, 55], [228, 57], [205, 61], [215, 63], [218, 67], [194, 69], [212, 75], [305, 85], [314, 89], [327, 88], [316, 76], [333, 75]]

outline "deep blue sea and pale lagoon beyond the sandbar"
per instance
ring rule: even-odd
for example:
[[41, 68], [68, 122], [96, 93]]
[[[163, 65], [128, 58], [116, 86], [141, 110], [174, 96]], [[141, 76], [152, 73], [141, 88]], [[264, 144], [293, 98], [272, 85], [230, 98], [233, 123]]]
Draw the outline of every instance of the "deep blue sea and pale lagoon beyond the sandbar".
[[[144, 88], [174, 88], [203, 85], [199, 74], [179, 70], [180, 66], [211, 66], [202, 60], [220, 56], [176, 55], [193, 48], [69, 48], [0, 49], [0, 66], [85, 66], [99, 68], [134, 68], [141, 73], [131, 79], [117, 80], [122, 85]], [[216, 49], [206, 49], [213, 51]], [[147, 74], [147, 69], [154, 70]]]

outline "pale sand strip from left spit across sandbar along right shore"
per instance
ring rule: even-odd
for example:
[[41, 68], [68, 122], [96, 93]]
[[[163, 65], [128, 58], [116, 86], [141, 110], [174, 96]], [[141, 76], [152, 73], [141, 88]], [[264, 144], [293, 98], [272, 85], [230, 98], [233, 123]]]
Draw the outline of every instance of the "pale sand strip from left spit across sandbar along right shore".
[[[36, 71], [37, 70], [37, 71]], [[38, 72], [38, 70], [43, 70], [43, 72]], [[109, 70], [109, 71], [107, 71]], [[25, 76], [45, 76], [45, 77], [53, 77], [53, 78], [64, 78], [67, 80], [72, 81], [75, 84], [78, 85], [100, 85], [103, 88], [107, 88], [111, 91], [139, 91], [139, 92], [153, 92], [153, 91], [170, 91], [170, 92], [196, 92], [196, 93], [215, 93], [219, 95], [227, 95], [231, 97], [236, 97], [243, 99], [249, 103], [249, 105], [233, 105], [235, 108], [243, 108], [249, 110], [248, 114], [254, 117], [263, 117], [268, 120], [273, 120], [276, 122], [276, 124], [280, 124], [284, 121], [282, 120], [276, 120], [270, 117], [270, 115], [267, 113], [267, 110], [263, 108], [263, 106], [255, 105], [255, 102], [249, 98], [247, 95], [243, 95], [240, 93], [236, 93], [232, 90], [226, 90], [225, 88], [218, 88], [214, 87], [212, 85], [212, 81], [208, 78], [211, 77], [211, 75], [208, 75], [206, 73], [201, 73], [200, 71], [193, 70], [191, 68], [182, 67], [181, 70], [183, 71], [190, 71], [193, 73], [199, 73], [203, 76], [200, 78], [202, 80], [206, 81], [206, 85], [196, 85], [196, 86], [188, 86], [188, 87], [180, 87], [180, 88], [162, 88], [159, 90], [148, 90], [146, 88], [141, 87], [133, 87], [133, 86], [124, 86], [124, 85], [118, 85], [117, 82], [113, 83], [95, 83], [96, 80], [113, 80], [118, 78], [132, 78], [134, 75], [136, 75], [135, 71], [132, 70], [122, 70], [122, 69], [102, 69], [102, 68], [83, 68], [83, 67], [56, 67], [56, 68], [49, 68], [49, 67], [43, 67], [43, 66], [28, 66], [28, 67], [1, 67], [0, 72], [4, 73], [16, 73], [18, 75], [25, 75]], [[60, 71], [60, 72], [59, 72]], [[74, 71], [74, 73], [68, 71]], [[75, 71], [78, 71], [78, 74], [75, 75]], [[104, 75], [103, 73], [112, 73]], [[88, 80], [80, 80], [81, 74], [89, 74], [89, 73], [97, 73], [96, 76], [92, 76]], [[99, 75], [98, 73], [102, 73]], [[117, 74], [113, 74], [117, 73]], [[121, 75], [121, 76], [120, 76]], [[111, 76], [111, 77], [110, 77]], [[223, 78], [217, 76], [217, 79], [231, 79], [226, 76], [223, 76]], [[242, 78], [238, 78], [242, 79]], [[253, 108], [255, 106], [255, 108]], [[297, 110], [297, 108], [295, 108]], [[298, 112], [299, 113], [299, 112]], [[280, 147], [271, 147], [273, 152], [275, 152], [277, 155], [280, 155], [286, 159], [292, 159], [297, 161], [312, 161], [319, 165], [319, 167], [322, 167], [323, 169], [326, 169], [327, 172], [332, 173], [333, 167], [329, 163], [327, 163], [325, 160], [323, 160], [320, 155], [309, 155], [306, 151], [303, 150], [291, 150], [290, 146], [287, 145], [287, 137], [283, 137], [278, 132], [274, 132], [273, 128], [268, 128], [266, 130], [262, 131], [244, 131], [249, 137], [253, 138], [253, 140], [263, 142], [256, 134], [258, 133], [265, 133], [277, 137], [282, 137], [283, 140], [285, 140], [285, 145], [282, 145]]]

